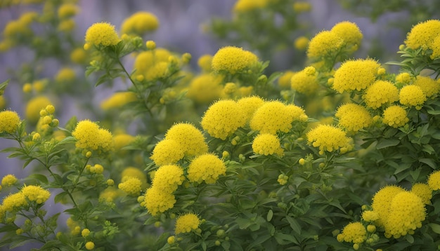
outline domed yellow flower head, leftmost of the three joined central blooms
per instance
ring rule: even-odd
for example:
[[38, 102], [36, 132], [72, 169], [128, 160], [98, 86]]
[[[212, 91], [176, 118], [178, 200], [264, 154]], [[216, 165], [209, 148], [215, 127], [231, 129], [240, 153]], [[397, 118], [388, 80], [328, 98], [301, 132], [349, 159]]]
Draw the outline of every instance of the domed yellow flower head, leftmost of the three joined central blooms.
[[212, 137], [226, 140], [235, 130], [245, 126], [245, 116], [234, 100], [219, 100], [202, 116], [202, 128]]

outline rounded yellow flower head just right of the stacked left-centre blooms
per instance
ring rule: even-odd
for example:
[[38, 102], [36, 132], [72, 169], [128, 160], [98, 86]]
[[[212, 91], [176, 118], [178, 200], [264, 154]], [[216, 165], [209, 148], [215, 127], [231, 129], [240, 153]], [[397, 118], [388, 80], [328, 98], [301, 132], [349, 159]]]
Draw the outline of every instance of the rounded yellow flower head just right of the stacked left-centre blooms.
[[191, 161], [188, 167], [190, 182], [214, 184], [219, 175], [226, 174], [226, 165], [214, 154], [202, 154]]

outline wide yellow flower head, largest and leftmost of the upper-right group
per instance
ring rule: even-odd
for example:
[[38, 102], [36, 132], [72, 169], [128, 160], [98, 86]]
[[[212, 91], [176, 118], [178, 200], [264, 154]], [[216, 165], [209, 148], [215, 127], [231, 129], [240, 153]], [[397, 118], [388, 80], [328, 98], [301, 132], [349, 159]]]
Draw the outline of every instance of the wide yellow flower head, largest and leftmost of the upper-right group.
[[376, 79], [380, 64], [375, 60], [348, 60], [335, 72], [332, 88], [339, 93], [363, 90]]

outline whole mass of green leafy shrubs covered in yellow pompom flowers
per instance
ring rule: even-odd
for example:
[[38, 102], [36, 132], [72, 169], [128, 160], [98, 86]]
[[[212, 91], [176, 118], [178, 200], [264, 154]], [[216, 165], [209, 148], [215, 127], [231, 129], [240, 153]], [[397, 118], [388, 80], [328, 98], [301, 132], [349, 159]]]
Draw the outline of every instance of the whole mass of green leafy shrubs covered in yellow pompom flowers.
[[[53, 57], [70, 67], [43, 78], [23, 65], [0, 84], [0, 137], [13, 142], [1, 151], [30, 170], [1, 179], [0, 246], [440, 246], [439, 20], [408, 30], [401, 61], [381, 62], [354, 57], [365, 39], [354, 22], [307, 38], [296, 19], [310, 11], [307, 2], [239, 0], [231, 22], [206, 27], [233, 45], [202, 55], [192, 69], [189, 53], [145, 41], [160, 29], [153, 13], [90, 24], [75, 41], [75, 1], [6, 6], [31, 2], [41, 13], [11, 20], [0, 50], [27, 46], [34, 62]], [[38, 25], [57, 33], [37, 37]], [[279, 34], [286, 35], [274, 44], [265, 40]], [[306, 64], [299, 58], [273, 71], [263, 60], [287, 41]], [[93, 84], [112, 90], [116, 82], [124, 87], [90, 102]], [[4, 98], [10, 85], [21, 85], [23, 114]], [[91, 118], [62, 121], [60, 95], [84, 99]]]

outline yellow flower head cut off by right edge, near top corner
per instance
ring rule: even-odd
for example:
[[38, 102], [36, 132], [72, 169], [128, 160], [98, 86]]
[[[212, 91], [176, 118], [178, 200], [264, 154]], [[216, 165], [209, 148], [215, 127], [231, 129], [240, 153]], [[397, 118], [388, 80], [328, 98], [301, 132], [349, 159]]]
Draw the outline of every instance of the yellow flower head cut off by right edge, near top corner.
[[427, 20], [415, 25], [406, 36], [405, 44], [408, 48], [426, 50], [431, 47], [432, 42], [440, 33], [439, 20]]

